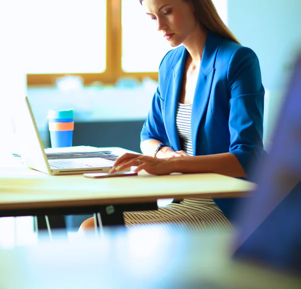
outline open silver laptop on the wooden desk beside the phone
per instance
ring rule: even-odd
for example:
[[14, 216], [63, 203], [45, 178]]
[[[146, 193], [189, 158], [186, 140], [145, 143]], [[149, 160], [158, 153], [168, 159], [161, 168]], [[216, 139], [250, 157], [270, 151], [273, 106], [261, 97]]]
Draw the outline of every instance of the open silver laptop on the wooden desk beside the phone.
[[17, 134], [23, 163], [32, 169], [50, 175], [71, 175], [88, 172], [108, 172], [114, 161], [100, 157], [48, 160], [38, 127], [27, 97], [22, 100], [16, 117]]

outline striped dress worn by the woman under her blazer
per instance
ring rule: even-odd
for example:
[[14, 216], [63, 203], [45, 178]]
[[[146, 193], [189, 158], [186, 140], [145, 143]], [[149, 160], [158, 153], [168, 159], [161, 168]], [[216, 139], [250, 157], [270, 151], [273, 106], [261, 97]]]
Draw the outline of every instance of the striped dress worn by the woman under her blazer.
[[[176, 126], [182, 149], [193, 155], [191, 141], [192, 104], [178, 104]], [[171, 203], [154, 211], [124, 212], [127, 227], [143, 224], [167, 224], [171, 231], [219, 231], [233, 230], [232, 225], [211, 198], [189, 198], [179, 203]]]

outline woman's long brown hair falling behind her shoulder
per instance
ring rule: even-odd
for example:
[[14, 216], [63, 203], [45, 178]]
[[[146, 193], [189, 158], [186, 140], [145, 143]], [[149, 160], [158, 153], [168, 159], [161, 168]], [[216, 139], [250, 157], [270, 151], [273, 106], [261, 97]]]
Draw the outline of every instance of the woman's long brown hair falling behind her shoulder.
[[[142, 5], [143, 0], [139, 0]], [[212, 0], [183, 0], [184, 2], [191, 1], [194, 10], [195, 16], [205, 28], [211, 32], [218, 34], [226, 39], [229, 39], [237, 44], [240, 42], [233, 35], [230, 29], [223, 23], [220, 16], [217, 13], [217, 10], [212, 2]]]

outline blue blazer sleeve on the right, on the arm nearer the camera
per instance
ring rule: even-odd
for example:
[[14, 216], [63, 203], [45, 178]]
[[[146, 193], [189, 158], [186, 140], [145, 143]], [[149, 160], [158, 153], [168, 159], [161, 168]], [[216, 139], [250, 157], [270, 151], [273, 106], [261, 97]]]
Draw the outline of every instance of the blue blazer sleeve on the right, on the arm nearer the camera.
[[263, 154], [264, 88], [259, 61], [249, 48], [234, 51], [227, 72], [230, 92], [230, 153], [234, 154], [249, 176]]

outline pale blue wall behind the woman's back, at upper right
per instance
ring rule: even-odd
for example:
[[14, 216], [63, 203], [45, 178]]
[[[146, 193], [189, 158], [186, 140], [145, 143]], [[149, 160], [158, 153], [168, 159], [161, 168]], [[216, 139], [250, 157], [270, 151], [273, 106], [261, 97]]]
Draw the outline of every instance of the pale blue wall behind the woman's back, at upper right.
[[259, 58], [270, 139], [296, 51], [301, 49], [300, 0], [228, 0], [228, 27]]

